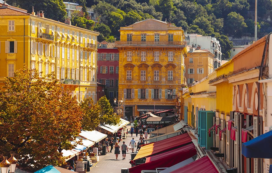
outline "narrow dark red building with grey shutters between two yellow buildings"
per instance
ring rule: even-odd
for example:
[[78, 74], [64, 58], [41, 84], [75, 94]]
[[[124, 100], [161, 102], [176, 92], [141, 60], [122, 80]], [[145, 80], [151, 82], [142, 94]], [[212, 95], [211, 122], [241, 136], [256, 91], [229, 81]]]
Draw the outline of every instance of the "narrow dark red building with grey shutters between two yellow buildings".
[[113, 99], [118, 99], [119, 83], [119, 51], [115, 43], [101, 42], [97, 48], [97, 81], [105, 85], [105, 94], [113, 105]]

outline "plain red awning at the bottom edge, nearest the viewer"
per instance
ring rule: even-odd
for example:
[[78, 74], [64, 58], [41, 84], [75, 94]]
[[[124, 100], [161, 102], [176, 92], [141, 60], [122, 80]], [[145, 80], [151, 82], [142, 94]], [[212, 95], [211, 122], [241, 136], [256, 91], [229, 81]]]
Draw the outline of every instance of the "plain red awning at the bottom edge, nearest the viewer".
[[181, 168], [178, 168], [169, 173], [188, 173], [188, 172], [197, 172], [197, 173], [218, 173], [212, 161], [209, 157], [204, 156], [201, 159], [198, 159], [188, 165], [185, 165]]

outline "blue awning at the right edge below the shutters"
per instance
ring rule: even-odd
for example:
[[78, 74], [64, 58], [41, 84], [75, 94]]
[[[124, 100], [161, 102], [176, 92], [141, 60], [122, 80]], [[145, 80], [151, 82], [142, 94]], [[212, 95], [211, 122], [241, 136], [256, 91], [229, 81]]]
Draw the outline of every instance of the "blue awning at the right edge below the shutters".
[[[242, 143], [242, 155], [249, 158], [272, 159], [272, 131]], [[137, 156], [137, 155], [136, 155]]]

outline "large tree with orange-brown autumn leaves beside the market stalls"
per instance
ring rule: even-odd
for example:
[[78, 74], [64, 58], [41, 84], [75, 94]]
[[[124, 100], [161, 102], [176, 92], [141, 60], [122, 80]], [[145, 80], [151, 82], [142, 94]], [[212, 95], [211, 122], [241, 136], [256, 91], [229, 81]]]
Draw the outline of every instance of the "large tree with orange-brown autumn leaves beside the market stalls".
[[80, 106], [58, 82], [24, 66], [0, 90], [0, 153], [15, 153], [31, 172], [63, 164], [61, 151], [72, 149], [80, 133]]

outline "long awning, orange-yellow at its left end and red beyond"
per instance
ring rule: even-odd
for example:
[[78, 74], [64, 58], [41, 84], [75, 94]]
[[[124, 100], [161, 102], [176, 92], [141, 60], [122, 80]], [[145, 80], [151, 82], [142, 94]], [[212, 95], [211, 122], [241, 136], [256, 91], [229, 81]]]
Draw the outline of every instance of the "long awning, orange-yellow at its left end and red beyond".
[[192, 139], [188, 133], [184, 133], [158, 142], [150, 143], [142, 146], [133, 160], [161, 153], [171, 148], [187, 145], [189, 143], [192, 143]]

